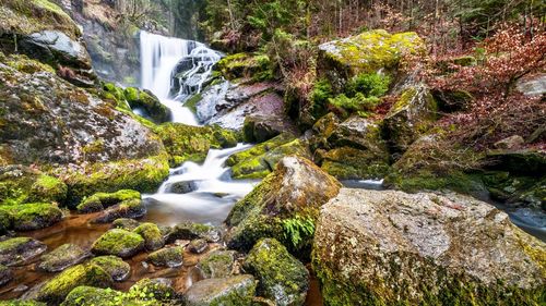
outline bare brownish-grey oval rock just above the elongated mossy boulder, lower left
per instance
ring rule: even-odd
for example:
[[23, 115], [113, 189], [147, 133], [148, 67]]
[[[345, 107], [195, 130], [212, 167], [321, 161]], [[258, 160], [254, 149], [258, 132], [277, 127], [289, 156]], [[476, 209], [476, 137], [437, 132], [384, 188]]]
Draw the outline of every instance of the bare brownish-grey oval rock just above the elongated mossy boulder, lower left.
[[91, 253], [74, 244], [63, 244], [49, 254], [40, 257], [38, 269], [46, 272], [59, 272], [68, 267], [81, 264], [91, 257]]

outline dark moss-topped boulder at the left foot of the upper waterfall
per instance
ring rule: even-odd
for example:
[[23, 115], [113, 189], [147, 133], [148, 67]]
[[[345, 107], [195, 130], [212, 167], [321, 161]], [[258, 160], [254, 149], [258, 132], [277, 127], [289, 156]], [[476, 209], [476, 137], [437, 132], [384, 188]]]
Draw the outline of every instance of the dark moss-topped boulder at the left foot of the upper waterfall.
[[150, 90], [128, 87], [124, 90], [124, 98], [132, 109], [142, 109], [145, 117], [155, 123], [168, 122], [173, 117], [170, 109], [164, 106]]

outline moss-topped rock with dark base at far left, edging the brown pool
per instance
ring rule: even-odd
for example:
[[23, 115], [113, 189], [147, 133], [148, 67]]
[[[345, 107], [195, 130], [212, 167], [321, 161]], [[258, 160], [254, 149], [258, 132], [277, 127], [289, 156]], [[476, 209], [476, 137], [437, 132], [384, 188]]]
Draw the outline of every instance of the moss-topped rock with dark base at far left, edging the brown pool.
[[62, 211], [48, 203], [19, 205], [11, 210], [16, 231], [34, 231], [51, 227], [62, 220]]

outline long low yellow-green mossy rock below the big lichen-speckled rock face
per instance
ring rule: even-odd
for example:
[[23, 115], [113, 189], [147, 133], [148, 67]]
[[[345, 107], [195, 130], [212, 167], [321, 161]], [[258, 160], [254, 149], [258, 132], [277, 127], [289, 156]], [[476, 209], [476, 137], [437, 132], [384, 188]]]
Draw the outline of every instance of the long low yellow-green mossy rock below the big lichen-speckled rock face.
[[146, 159], [121, 160], [108, 163], [94, 163], [86, 173], [56, 169], [63, 172], [69, 187], [68, 204], [75, 208], [86, 196], [97, 192], [115, 193], [120, 189], [133, 189], [141, 193], [154, 193], [169, 174], [167, 156], [161, 155]]

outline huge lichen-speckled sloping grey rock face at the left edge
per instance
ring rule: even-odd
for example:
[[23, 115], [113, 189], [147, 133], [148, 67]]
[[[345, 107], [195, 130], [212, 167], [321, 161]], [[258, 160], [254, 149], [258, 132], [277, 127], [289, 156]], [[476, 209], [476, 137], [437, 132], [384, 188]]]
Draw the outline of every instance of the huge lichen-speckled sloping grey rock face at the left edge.
[[0, 154], [11, 163], [112, 161], [163, 149], [136, 120], [49, 72], [0, 63]]

